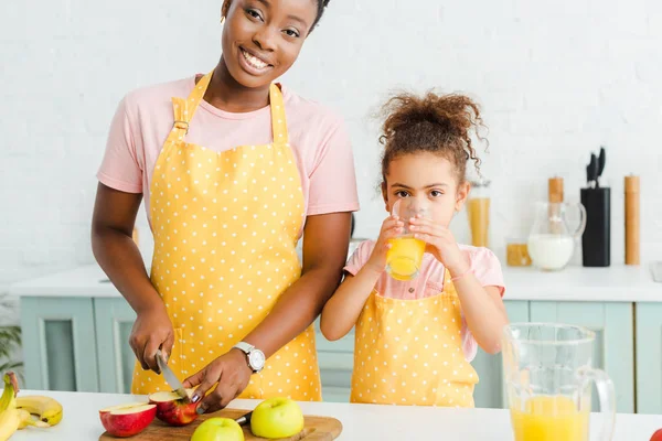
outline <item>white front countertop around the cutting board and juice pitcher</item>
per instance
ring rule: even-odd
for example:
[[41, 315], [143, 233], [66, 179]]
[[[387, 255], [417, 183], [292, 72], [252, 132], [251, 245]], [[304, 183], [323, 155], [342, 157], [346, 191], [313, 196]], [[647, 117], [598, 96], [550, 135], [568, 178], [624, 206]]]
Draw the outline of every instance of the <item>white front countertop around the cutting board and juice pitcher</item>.
[[[24, 390], [21, 395], [47, 395], [64, 407], [62, 422], [49, 429], [28, 428], [18, 431], [12, 441], [96, 441], [104, 432], [98, 410], [105, 407], [145, 400], [145, 397], [111, 394], [56, 392]], [[228, 407], [252, 409], [255, 400], [235, 400]], [[343, 431], [339, 440], [445, 440], [445, 441], [509, 441], [513, 439], [510, 415], [503, 409], [451, 409], [431, 407], [399, 407], [305, 402], [306, 415], [339, 419]], [[602, 422], [591, 415], [591, 427]], [[662, 416], [619, 413], [612, 441], [648, 441], [662, 428]]]

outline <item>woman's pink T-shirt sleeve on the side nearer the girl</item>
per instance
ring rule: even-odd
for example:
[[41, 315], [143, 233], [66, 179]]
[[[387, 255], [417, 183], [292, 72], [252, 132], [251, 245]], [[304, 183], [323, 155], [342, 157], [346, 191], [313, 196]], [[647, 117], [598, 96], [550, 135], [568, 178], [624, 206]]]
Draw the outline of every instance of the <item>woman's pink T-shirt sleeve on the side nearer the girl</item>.
[[310, 174], [308, 215], [359, 209], [352, 144], [341, 119], [330, 126]]

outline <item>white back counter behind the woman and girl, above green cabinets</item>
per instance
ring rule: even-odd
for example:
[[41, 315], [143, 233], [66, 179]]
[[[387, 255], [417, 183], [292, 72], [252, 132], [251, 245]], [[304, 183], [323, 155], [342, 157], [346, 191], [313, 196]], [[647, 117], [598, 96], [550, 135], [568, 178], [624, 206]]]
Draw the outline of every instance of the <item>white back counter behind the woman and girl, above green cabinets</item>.
[[[653, 281], [648, 263], [640, 267], [567, 267], [543, 272], [532, 267], [503, 266], [505, 300], [662, 302], [662, 283]], [[15, 283], [18, 297], [119, 297], [97, 265]]]

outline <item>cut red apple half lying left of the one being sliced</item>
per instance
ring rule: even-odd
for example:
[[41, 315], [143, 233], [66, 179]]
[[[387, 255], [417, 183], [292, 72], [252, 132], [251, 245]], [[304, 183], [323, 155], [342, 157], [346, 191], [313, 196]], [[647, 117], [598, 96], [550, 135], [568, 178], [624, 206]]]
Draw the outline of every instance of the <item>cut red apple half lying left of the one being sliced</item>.
[[154, 419], [157, 406], [131, 402], [99, 410], [102, 424], [114, 437], [126, 438], [142, 432]]

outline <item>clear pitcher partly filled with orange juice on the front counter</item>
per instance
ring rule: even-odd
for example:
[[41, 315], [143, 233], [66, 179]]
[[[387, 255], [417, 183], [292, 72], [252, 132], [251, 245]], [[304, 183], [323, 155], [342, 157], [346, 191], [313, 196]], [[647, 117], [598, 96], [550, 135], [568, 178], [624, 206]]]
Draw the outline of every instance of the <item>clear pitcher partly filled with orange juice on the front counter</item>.
[[[611, 440], [613, 384], [592, 366], [595, 333], [557, 323], [513, 323], [503, 331], [503, 376], [515, 441], [588, 441], [591, 383]], [[594, 438], [595, 439], [595, 438]]]

